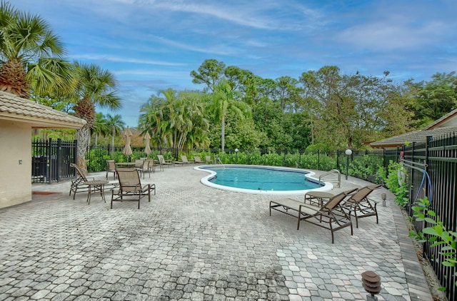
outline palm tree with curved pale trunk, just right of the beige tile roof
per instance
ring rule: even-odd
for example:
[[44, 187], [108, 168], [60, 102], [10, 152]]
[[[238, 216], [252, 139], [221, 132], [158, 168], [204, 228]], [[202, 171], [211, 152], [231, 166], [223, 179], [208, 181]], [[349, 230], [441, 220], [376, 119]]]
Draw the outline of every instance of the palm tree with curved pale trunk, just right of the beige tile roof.
[[76, 131], [78, 143], [78, 165], [86, 168], [86, 149], [91, 128], [96, 121], [95, 106], [117, 110], [121, 108], [121, 100], [116, 96], [116, 80], [111, 72], [94, 64], [75, 62], [76, 76], [74, 97], [77, 98], [74, 111], [76, 116], [87, 123]]

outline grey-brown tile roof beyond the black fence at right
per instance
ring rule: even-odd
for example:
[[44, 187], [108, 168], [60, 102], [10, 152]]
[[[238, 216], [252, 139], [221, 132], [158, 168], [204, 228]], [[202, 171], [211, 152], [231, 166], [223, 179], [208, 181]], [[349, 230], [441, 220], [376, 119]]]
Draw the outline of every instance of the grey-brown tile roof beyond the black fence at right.
[[444, 126], [442, 128], [433, 128], [431, 130], [418, 130], [410, 133], [404, 133], [380, 141], [370, 143], [373, 148], [393, 148], [403, 146], [408, 142], [425, 142], [427, 136], [441, 137], [451, 134], [457, 134], [457, 126]]

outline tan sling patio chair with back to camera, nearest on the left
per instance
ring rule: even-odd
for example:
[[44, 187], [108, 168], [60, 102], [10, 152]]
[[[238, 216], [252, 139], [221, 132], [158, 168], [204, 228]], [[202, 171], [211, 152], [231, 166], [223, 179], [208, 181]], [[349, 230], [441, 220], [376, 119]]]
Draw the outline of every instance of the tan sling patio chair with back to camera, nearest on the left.
[[148, 201], [151, 202], [151, 191], [154, 190], [154, 195], [156, 195], [155, 184], [141, 185], [140, 176], [136, 168], [118, 168], [116, 173], [119, 179], [119, 190], [117, 192], [111, 190], [111, 209], [113, 209], [113, 202], [123, 200], [138, 202], [139, 209], [141, 198], [147, 195]]

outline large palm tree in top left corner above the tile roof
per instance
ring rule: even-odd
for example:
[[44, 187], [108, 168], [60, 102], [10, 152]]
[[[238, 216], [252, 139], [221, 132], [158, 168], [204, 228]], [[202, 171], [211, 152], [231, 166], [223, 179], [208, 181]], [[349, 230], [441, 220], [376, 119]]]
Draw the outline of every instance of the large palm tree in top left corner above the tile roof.
[[40, 16], [0, 3], [0, 90], [29, 98], [71, 91], [64, 44]]

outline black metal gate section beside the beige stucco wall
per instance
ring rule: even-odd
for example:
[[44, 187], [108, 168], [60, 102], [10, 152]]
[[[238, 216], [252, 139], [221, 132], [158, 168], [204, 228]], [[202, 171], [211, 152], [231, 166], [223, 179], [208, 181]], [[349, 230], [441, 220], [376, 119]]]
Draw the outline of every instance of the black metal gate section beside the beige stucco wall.
[[75, 141], [36, 140], [32, 144], [31, 181], [32, 183], [60, 182], [74, 177], [70, 164], [76, 163]]

